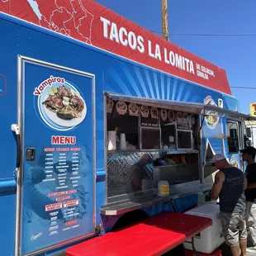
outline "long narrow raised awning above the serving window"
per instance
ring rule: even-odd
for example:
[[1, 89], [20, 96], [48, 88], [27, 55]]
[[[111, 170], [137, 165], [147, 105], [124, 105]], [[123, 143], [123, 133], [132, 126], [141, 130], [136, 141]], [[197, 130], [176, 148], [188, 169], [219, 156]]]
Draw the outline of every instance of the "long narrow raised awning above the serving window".
[[115, 92], [105, 92], [107, 97], [116, 101], [133, 102], [139, 105], [146, 105], [149, 107], [159, 107], [170, 109], [173, 111], [183, 111], [187, 113], [202, 115], [202, 116], [220, 116], [237, 121], [256, 121], [256, 116], [249, 116], [237, 111], [230, 111], [225, 108], [216, 107], [212, 105], [205, 105], [202, 103], [193, 102], [176, 102], [168, 100], [159, 100], [145, 97], [132, 97]]

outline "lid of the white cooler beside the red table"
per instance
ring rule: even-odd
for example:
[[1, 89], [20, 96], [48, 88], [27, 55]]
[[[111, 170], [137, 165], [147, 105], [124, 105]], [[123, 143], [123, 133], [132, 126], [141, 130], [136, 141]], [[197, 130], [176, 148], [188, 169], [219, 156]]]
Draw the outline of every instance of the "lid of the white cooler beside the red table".
[[184, 213], [193, 216], [210, 218], [211, 220], [217, 220], [220, 217], [220, 206], [216, 203], [206, 203]]

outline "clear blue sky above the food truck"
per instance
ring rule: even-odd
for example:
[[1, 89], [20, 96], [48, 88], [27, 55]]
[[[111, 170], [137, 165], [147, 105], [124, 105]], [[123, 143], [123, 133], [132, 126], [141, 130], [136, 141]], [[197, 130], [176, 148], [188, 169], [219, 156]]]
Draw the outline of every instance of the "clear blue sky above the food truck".
[[[161, 36], [161, 0], [96, 0]], [[169, 33], [256, 34], [256, 0], [168, 0]], [[230, 86], [256, 87], [256, 36], [170, 36], [185, 50], [226, 70]], [[256, 90], [232, 88], [249, 113]]]

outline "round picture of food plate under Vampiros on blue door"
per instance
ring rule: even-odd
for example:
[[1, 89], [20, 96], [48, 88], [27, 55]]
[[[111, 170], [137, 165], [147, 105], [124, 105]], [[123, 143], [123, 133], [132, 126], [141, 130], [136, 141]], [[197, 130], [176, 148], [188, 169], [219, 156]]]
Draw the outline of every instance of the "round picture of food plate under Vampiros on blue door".
[[87, 114], [80, 92], [66, 81], [46, 89], [38, 100], [41, 116], [58, 126], [78, 126]]

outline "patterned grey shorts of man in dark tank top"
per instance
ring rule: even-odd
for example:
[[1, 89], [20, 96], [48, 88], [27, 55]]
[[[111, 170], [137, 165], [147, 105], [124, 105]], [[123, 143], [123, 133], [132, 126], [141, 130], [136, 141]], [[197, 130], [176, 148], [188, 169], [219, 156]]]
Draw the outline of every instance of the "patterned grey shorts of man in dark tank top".
[[240, 213], [220, 211], [220, 221], [226, 244], [239, 246], [239, 240], [247, 239], [245, 211]]

